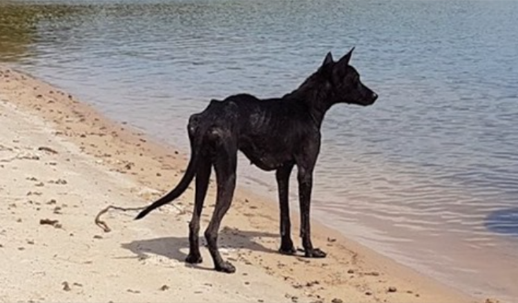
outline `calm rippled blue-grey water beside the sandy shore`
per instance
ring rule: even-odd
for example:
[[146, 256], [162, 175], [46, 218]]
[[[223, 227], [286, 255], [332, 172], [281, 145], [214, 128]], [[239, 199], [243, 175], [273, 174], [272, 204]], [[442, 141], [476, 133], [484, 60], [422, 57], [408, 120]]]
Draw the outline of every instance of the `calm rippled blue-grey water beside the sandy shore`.
[[[0, 59], [187, 150], [211, 98], [281, 96], [356, 46], [380, 98], [327, 114], [314, 213], [517, 300], [517, 20], [518, 1], [0, 1]], [[275, 198], [274, 174], [241, 160], [240, 185]]]

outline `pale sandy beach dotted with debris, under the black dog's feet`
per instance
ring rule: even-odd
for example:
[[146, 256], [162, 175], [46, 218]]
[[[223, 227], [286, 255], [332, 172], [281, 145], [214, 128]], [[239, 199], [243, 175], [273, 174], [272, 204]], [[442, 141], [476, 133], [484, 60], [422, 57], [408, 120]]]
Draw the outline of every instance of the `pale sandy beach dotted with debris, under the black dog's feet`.
[[[0, 65], [0, 302], [483, 302], [313, 221], [315, 260], [277, 253], [278, 209], [238, 190], [220, 247], [233, 275], [184, 263], [193, 184], [134, 221], [176, 185], [187, 151], [109, 121], [73, 95]], [[202, 230], [215, 197], [211, 182]], [[298, 216], [292, 213], [298, 239]], [[204, 240], [201, 240], [202, 244]], [[490, 300], [490, 299], [488, 299]], [[496, 302], [496, 301], [495, 301]]]

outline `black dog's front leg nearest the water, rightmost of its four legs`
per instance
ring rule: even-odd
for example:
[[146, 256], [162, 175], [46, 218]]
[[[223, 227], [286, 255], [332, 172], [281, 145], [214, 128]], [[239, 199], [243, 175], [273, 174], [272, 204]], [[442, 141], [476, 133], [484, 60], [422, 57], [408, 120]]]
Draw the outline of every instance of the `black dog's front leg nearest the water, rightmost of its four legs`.
[[311, 244], [311, 227], [309, 209], [311, 204], [311, 189], [313, 187], [313, 169], [298, 165], [298, 198], [300, 202], [300, 238], [303, 240], [305, 256], [307, 258], [325, 258], [326, 253], [314, 249]]

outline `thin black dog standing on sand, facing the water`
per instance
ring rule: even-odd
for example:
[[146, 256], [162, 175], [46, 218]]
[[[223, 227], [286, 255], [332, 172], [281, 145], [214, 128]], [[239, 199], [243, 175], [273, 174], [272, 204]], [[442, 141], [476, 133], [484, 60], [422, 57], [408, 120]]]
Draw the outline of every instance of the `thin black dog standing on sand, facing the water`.
[[[353, 48], [354, 50], [354, 48]], [[214, 167], [218, 194], [205, 238], [217, 271], [233, 273], [236, 268], [224, 261], [218, 251], [218, 229], [227, 213], [236, 186], [238, 150], [251, 163], [267, 171], [276, 170], [280, 203], [280, 253], [293, 254], [289, 222], [288, 181], [294, 165], [298, 169], [300, 198], [300, 237], [305, 256], [324, 258], [325, 252], [314, 248], [309, 233], [309, 202], [313, 169], [320, 151], [320, 126], [327, 110], [336, 103], [372, 105], [378, 95], [360, 81], [349, 65], [352, 50], [334, 62], [331, 53], [323, 65], [297, 90], [283, 96], [260, 100], [249, 94], [212, 100], [199, 114], [193, 114], [187, 127], [191, 142], [191, 160], [178, 186], [160, 198], [137, 219], [153, 209], [178, 198], [196, 176], [193, 217], [189, 224], [190, 251], [186, 262], [200, 263], [198, 247], [200, 215], [211, 167]]]

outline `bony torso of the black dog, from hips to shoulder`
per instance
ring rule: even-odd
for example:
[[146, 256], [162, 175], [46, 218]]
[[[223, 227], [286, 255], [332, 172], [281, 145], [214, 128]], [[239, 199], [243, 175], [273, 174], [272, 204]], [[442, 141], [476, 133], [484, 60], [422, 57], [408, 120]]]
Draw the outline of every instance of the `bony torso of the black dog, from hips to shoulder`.
[[203, 141], [236, 140], [240, 149], [261, 169], [275, 169], [293, 160], [300, 141], [318, 132], [308, 124], [302, 101], [287, 96], [261, 100], [250, 94], [236, 94], [223, 101], [212, 100], [199, 114], [191, 116], [191, 136]]

